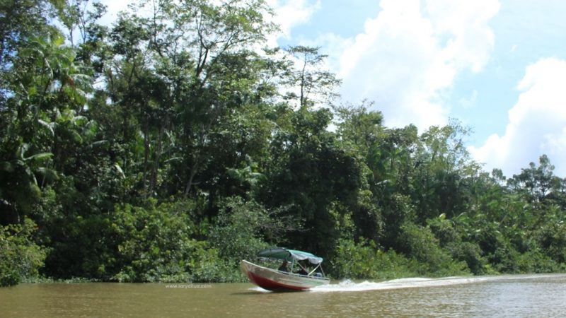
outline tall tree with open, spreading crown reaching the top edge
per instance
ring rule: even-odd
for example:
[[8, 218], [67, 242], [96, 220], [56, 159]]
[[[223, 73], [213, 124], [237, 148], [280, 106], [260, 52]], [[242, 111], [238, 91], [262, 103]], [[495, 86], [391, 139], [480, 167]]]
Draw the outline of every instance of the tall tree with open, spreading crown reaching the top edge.
[[142, 192], [154, 194], [169, 147], [174, 153], [162, 190], [194, 195], [195, 184], [206, 182], [195, 178], [209, 167], [219, 124], [260, 85], [262, 59], [253, 46], [270, 31], [267, 6], [262, 0], [147, 5], [153, 16], [123, 16], [113, 30], [113, 49], [123, 59], [108, 73], [110, 92], [116, 92], [110, 96], [122, 104], [125, 124], [141, 124]]

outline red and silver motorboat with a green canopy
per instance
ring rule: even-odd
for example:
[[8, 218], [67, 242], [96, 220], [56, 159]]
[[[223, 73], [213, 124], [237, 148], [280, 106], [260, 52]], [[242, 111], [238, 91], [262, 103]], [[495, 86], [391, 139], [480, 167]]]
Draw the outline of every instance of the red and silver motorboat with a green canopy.
[[[317, 257], [311, 253], [276, 247], [262, 249], [257, 254], [260, 260], [282, 261], [284, 264], [291, 263], [289, 271], [280, 271], [269, 267], [260, 266], [243, 259], [241, 269], [248, 276], [250, 282], [266, 290], [272, 291], [299, 291], [308, 290], [320, 285], [327, 285], [330, 279], [324, 276], [322, 269], [322, 257]], [[315, 266], [308, 271], [299, 261]], [[293, 273], [294, 267], [298, 266], [301, 273]]]

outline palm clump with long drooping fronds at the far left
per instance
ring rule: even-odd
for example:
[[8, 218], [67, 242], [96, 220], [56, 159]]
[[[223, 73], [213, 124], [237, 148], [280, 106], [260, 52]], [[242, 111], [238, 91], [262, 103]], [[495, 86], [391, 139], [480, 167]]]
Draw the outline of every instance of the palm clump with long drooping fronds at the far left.
[[2, 114], [6, 134], [1, 139], [1, 193], [11, 223], [32, 210], [40, 187], [64, 169], [72, 155], [64, 144], [81, 139], [67, 122], [85, 122], [78, 114], [91, 88], [91, 77], [74, 61], [74, 50], [64, 47], [61, 35], [31, 42], [33, 47], [22, 48], [13, 59], [6, 87], [11, 93]]

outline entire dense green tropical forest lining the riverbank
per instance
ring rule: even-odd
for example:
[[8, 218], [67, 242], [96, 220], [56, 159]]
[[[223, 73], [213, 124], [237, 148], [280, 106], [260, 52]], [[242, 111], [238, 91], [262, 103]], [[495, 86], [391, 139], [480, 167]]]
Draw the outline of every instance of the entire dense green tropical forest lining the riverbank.
[[[473, 127], [386, 126], [264, 0], [0, 2], [0, 285], [566, 271], [566, 178], [485, 171]], [[562, 164], [562, 163], [560, 163]]]

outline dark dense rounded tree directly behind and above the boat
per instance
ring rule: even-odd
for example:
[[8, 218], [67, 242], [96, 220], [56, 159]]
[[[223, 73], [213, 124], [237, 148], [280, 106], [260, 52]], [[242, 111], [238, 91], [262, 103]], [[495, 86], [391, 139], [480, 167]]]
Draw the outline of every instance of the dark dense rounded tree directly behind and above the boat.
[[260, 198], [266, 206], [289, 206], [289, 215], [304, 221], [302, 230], [288, 233], [294, 246], [326, 255], [350, 226], [360, 167], [327, 131], [330, 110], [300, 108], [288, 116], [289, 126], [272, 141]]

